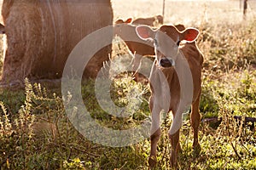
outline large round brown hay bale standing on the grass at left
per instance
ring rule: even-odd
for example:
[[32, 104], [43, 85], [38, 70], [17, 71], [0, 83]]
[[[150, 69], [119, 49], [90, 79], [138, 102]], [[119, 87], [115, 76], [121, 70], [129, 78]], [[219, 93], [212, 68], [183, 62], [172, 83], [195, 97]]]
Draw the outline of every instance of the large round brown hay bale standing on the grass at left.
[[[68, 55], [85, 36], [113, 25], [110, 0], [3, 0], [7, 51], [2, 83], [61, 78]], [[89, 17], [90, 16], [90, 17]], [[109, 39], [113, 31], [109, 31]], [[96, 77], [111, 46], [90, 59], [84, 77]], [[88, 56], [91, 57], [91, 56]]]

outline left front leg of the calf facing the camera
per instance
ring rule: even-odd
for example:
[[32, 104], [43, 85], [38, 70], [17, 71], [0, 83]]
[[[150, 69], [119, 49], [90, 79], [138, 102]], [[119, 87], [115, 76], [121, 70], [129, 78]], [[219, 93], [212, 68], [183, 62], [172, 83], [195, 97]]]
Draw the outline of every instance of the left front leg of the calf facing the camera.
[[156, 164], [156, 148], [157, 142], [160, 139], [160, 107], [154, 104], [153, 97], [150, 98], [149, 106], [152, 116], [152, 124], [150, 129], [150, 156], [148, 158], [148, 164], [150, 167], [154, 167]]

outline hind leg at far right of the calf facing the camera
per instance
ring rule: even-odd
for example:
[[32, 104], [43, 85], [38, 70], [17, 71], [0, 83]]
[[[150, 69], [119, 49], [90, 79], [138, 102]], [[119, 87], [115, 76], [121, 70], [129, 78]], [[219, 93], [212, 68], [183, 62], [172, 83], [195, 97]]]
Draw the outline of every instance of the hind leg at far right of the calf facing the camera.
[[194, 142], [193, 148], [200, 149], [200, 144], [198, 142], [198, 128], [201, 121], [201, 115], [199, 113], [199, 104], [200, 104], [200, 97], [198, 97], [195, 102], [192, 104], [192, 112], [190, 115], [191, 126], [193, 127], [194, 131]]

